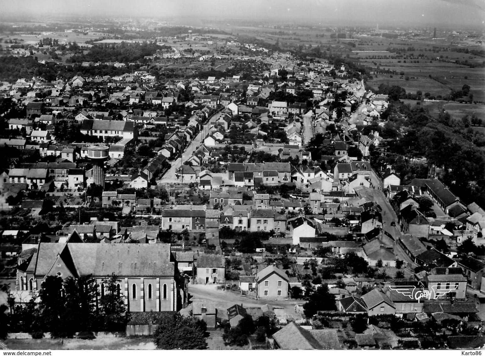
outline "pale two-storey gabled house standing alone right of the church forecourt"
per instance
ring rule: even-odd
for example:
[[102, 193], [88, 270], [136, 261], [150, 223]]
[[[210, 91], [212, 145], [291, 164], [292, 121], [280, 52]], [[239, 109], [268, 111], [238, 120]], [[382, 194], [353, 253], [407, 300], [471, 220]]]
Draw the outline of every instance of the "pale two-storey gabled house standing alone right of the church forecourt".
[[275, 265], [269, 265], [256, 275], [257, 297], [259, 298], [287, 298], [288, 286], [288, 275]]

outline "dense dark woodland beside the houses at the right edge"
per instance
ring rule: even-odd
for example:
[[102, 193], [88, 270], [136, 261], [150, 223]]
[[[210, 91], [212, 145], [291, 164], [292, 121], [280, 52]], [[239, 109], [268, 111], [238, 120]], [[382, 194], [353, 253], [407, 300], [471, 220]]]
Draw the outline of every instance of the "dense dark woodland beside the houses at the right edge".
[[[382, 115], [384, 128], [372, 125], [385, 139], [371, 147], [374, 168], [387, 163], [401, 175], [403, 184], [412, 178], [439, 177], [466, 203], [485, 204], [485, 136], [471, 127], [472, 115], [433, 117], [426, 108], [392, 101]], [[413, 159], [425, 159], [413, 160]]]

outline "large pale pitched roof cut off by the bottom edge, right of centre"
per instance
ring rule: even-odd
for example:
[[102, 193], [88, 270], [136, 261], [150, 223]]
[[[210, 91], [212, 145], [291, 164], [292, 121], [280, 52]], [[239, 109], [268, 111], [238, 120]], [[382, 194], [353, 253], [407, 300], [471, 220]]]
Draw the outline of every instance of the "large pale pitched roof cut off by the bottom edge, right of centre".
[[275, 349], [342, 350], [336, 329], [304, 329], [291, 322], [273, 334]]

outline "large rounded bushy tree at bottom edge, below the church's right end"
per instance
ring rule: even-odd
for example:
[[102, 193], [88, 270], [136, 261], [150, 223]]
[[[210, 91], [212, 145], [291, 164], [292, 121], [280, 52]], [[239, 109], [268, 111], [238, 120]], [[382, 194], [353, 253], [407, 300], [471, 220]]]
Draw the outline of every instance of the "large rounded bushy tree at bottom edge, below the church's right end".
[[205, 331], [194, 318], [179, 313], [163, 316], [154, 333], [153, 342], [163, 350], [204, 350], [207, 342]]

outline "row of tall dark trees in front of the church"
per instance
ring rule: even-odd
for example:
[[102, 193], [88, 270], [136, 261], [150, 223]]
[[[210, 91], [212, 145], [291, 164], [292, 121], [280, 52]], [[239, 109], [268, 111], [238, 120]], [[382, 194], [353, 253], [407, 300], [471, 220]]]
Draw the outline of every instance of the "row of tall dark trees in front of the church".
[[26, 306], [17, 306], [9, 315], [9, 332], [69, 338], [78, 332], [124, 331], [129, 313], [120, 283], [114, 274], [101, 286], [90, 276], [47, 276], [38, 295], [32, 292]]

